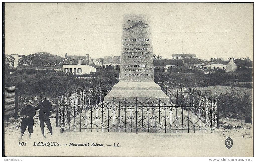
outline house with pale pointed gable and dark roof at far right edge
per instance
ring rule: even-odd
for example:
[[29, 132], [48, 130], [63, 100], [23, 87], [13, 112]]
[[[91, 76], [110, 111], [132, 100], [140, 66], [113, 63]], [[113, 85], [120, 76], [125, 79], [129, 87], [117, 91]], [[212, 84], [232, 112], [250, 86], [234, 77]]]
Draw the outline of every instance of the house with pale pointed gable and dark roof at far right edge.
[[249, 57], [246, 58], [246, 60], [240, 60], [240, 59], [234, 59], [234, 57], [230, 60], [230, 62], [227, 64], [227, 70], [226, 72], [235, 72], [238, 67], [246, 67], [246, 68], [252, 68], [253, 62], [250, 60]]

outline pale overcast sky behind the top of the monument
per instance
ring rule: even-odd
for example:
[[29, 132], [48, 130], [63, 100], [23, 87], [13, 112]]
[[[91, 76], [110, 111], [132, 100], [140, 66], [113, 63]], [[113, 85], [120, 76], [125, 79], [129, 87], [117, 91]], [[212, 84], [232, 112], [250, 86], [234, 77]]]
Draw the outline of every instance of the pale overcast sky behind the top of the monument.
[[120, 56], [123, 14], [151, 15], [163, 58], [253, 57], [252, 3], [6, 3], [5, 54]]

